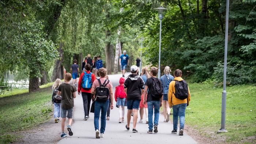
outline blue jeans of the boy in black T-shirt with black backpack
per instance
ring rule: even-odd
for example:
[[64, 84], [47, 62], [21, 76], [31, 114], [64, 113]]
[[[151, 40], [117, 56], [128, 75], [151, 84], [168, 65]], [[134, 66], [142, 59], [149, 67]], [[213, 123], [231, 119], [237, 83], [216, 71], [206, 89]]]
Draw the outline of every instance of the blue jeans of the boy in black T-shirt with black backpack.
[[153, 129], [153, 109], [155, 113], [154, 125], [158, 125], [160, 101], [149, 101], [147, 102], [148, 109], [148, 129]]

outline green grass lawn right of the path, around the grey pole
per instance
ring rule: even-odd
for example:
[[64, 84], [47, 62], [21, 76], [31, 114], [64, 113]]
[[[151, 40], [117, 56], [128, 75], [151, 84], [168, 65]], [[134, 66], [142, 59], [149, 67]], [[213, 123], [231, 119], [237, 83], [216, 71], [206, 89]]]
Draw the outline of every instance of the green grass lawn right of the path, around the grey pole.
[[[191, 102], [186, 109], [185, 124], [212, 140], [218, 137], [227, 143], [256, 143], [256, 86], [227, 87], [226, 129], [221, 127], [222, 88], [213, 84], [189, 84]], [[249, 140], [250, 139], [250, 140]]]

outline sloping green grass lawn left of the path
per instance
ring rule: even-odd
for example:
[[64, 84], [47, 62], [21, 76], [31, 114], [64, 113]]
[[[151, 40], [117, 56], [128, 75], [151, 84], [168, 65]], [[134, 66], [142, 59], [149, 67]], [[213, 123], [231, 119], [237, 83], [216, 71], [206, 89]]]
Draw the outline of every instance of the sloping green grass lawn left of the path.
[[10, 132], [48, 122], [53, 109], [51, 96], [52, 88], [44, 88], [37, 92], [0, 98], [0, 143], [15, 141], [17, 136], [8, 135]]

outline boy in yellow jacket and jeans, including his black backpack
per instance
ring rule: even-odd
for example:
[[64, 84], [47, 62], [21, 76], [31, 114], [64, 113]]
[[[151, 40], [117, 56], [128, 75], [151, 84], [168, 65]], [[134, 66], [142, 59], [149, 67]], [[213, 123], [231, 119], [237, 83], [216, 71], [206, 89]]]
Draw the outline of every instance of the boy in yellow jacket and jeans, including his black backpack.
[[182, 72], [180, 69], [174, 71], [174, 80], [169, 85], [168, 102], [170, 108], [173, 108], [173, 130], [176, 134], [178, 129], [178, 117], [180, 117], [180, 132], [183, 136], [185, 124], [185, 110], [190, 102], [190, 91], [188, 84], [181, 78]]

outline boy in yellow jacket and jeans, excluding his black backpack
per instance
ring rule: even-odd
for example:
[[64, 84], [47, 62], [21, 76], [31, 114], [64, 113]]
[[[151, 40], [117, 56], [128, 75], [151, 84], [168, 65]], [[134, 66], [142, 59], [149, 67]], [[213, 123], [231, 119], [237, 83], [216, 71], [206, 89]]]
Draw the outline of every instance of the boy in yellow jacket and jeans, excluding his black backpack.
[[[168, 102], [170, 108], [173, 108], [173, 130], [172, 133], [177, 134], [178, 129], [178, 117], [180, 117], [180, 132], [179, 135], [183, 136], [184, 132], [184, 123], [185, 123], [185, 110], [190, 102], [190, 91], [188, 88], [188, 98], [187, 99], [177, 99], [175, 97], [175, 83], [176, 81], [182, 81], [181, 78], [182, 72], [180, 69], [176, 69], [174, 71], [174, 80], [169, 84], [169, 92], [168, 92]], [[175, 81], [176, 80], [176, 81]]]

